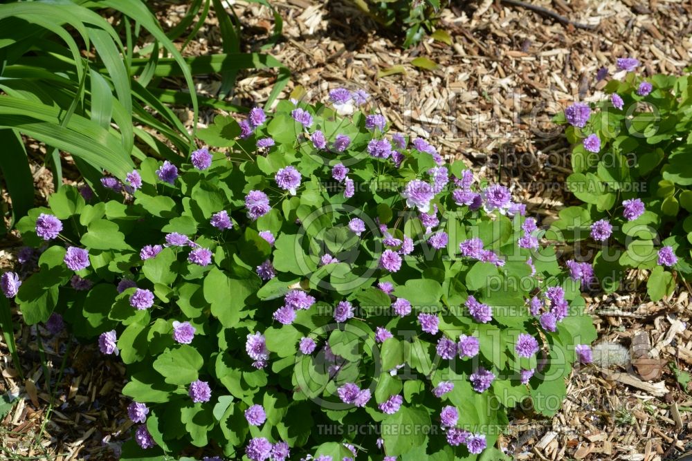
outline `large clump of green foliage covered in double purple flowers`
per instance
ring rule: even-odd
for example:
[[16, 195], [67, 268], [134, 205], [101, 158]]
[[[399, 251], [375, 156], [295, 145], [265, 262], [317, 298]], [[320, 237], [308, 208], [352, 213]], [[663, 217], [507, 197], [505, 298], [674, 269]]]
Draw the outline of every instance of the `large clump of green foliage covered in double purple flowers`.
[[583, 279], [506, 187], [366, 101], [219, 116], [215, 152], [19, 222], [24, 319], [127, 366], [122, 459], [497, 460], [509, 408], [556, 413], [595, 338]]

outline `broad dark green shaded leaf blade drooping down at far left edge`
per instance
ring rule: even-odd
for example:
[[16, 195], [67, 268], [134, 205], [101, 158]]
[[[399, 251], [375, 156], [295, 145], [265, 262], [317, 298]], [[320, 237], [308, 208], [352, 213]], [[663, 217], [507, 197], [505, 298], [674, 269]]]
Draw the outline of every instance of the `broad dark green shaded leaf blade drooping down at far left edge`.
[[0, 145], [3, 147], [0, 171], [12, 198], [12, 222], [16, 223], [34, 206], [34, 178], [19, 133], [0, 129]]

